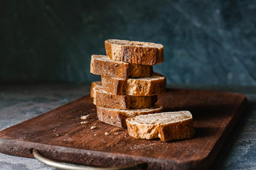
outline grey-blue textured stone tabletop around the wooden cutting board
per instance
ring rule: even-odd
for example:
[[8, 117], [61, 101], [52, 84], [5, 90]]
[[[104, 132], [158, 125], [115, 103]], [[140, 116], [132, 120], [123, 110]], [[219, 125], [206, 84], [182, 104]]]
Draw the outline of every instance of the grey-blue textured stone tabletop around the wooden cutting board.
[[[245, 94], [247, 108], [211, 169], [256, 169], [256, 87], [174, 86]], [[0, 130], [89, 94], [90, 84], [0, 84]], [[36, 159], [0, 154], [0, 169], [54, 169]]]

